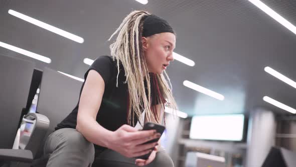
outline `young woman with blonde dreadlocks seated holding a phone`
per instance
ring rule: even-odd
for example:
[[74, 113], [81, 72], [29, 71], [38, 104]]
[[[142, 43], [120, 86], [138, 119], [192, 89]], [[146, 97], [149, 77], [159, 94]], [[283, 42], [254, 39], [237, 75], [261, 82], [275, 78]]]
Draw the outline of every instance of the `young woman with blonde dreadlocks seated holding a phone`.
[[162, 123], [165, 106], [177, 109], [163, 74], [174, 60], [175, 33], [144, 11], [131, 12], [110, 39], [117, 33], [111, 56], [93, 62], [77, 106], [47, 138], [47, 166], [174, 166], [158, 142], [143, 144], [160, 134], [134, 126]]

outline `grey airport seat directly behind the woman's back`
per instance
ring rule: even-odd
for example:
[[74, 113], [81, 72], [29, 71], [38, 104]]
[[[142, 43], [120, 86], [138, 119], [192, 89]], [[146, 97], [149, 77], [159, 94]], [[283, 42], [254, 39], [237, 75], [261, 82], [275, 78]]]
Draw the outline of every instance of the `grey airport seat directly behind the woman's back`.
[[34, 155], [32, 166], [46, 166], [50, 155], [43, 155], [46, 138], [77, 105], [83, 82], [45, 67], [42, 74], [37, 112], [50, 120], [48, 131]]

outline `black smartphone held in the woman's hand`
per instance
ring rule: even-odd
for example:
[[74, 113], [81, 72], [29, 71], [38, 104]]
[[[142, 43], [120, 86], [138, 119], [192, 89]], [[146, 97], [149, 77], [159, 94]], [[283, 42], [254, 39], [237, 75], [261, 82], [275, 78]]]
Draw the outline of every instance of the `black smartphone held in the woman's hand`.
[[[164, 133], [165, 131], [165, 127], [163, 125], [159, 125], [159, 124], [156, 124], [156, 123], [152, 123], [152, 122], [147, 122], [144, 124], [144, 127], [142, 130], [156, 130], [157, 133], [160, 133], [161, 135]], [[147, 141], [143, 144], [148, 144], [148, 143], [153, 143], [153, 142], [157, 142], [160, 138], [156, 138], [156, 139], [153, 139], [153, 140], [150, 140], [150, 141]], [[148, 159], [149, 156], [150, 156], [151, 152], [150, 153], [147, 153], [145, 155], [141, 155], [141, 156], [137, 156], [135, 158], [139, 158], [139, 159]]]

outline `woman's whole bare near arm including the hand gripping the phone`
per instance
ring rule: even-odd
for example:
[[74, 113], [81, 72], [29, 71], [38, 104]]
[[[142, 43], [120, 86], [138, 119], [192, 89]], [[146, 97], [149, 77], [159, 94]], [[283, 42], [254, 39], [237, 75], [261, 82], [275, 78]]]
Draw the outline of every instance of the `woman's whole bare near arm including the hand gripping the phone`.
[[142, 143], [158, 138], [154, 130], [138, 131], [129, 125], [122, 125], [113, 132], [96, 122], [104, 88], [102, 76], [97, 71], [90, 70], [80, 96], [77, 131], [88, 141], [112, 149], [126, 157], [136, 157], [152, 151], [149, 148], [154, 147], [157, 142], [143, 145]]

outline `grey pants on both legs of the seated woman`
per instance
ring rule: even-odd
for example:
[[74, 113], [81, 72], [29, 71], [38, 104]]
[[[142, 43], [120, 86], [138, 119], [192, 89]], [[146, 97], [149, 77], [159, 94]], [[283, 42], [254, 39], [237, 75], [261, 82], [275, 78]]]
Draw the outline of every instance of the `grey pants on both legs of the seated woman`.
[[[95, 153], [94, 145], [76, 129], [64, 128], [48, 136], [44, 154], [50, 154], [47, 167], [107, 167], [136, 166], [135, 158], [127, 158], [118, 152], [105, 149]], [[174, 167], [171, 157], [161, 149], [154, 161], [146, 166]]]

